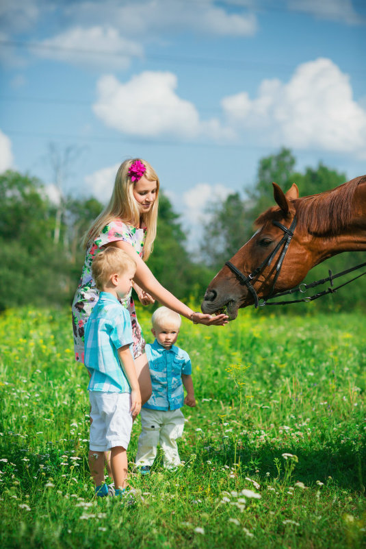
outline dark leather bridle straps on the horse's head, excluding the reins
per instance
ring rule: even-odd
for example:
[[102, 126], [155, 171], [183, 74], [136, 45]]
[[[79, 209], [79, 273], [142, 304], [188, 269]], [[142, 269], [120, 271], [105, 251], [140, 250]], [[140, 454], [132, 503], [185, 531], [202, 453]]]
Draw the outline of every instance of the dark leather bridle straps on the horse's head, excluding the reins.
[[[287, 249], [289, 247], [289, 243], [291, 242], [291, 239], [293, 237], [293, 232], [296, 228], [297, 223], [298, 223], [298, 220], [296, 219], [296, 216], [293, 217], [292, 223], [289, 226], [289, 228], [285, 227], [285, 225], [283, 225], [282, 223], [279, 223], [278, 221], [272, 221], [273, 225], [276, 225], [276, 227], [279, 227], [281, 230], [283, 230], [283, 233], [284, 233], [283, 237], [276, 244], [276, 246], [274, 247], [274, 249], [272, 250], [270, 255], [267, 256], [265, 258], [265, 260], [263, 260], [261, 265], [259, 265], [259, 267], [257, 267], [257, 269], [254, 269], [254, 271], [252, 273], [250, 273], [248, 276], [246, 276], [244, 273], [241, 273], [241, 271], [239, 271], [239, 269], [237, 269], [237, 267], [235, 267], [235, 265], [233, 265], [233, 263], [231, 263], [230, 261], [226, 261], [226, 263], [225, 263], [225, 265], [227, 265], [233, 271], [233, 273], [236, 274], [236, 276], [239, 278], [239, 280], [241, 280], [241, 282], [247, 286], [248, 290], [250, 291], [250, 293], [252, 294], [252, 296], [254, 298], [255, 308], [257, 308], [259, 305], [261, 305], [261, 306], [265, 305], [267, 300], [269, 300], [270, 297], [274, 296], [274, 286], [276, 286], [276, 282], [277, 282], [278, 276], [280, 275], [280, 270], [281, 270], [281, 267], [282, 267], [282, 264], [283, 264], [283, 260], [285, 258]], [[263, 303], [260, 304], [257, 292], [255, 291], [254, 286], [252, 285], [252, 280], [254, 278], [256, 278], [259, 275], [259, 273], [261, 273], [261, 271], [263, 271], [263, 269], [265, 269], [265, 267], [269, 267], [271, 265], [274, 256], [276, 256], [276, 253], [278, 252], [278, 250], [280, 249], [281, 246], [283, 246], [283, 250], [282, 250], [282, 252], [280, 254], [280, 257], [278, 258], [278, 261], [277, 261], [276, 274], [274, 276], [272, 289], [270, 291], [270, 294], [267, 295], [267, 297], [265, 297], [265, 298], [263, 297]]]

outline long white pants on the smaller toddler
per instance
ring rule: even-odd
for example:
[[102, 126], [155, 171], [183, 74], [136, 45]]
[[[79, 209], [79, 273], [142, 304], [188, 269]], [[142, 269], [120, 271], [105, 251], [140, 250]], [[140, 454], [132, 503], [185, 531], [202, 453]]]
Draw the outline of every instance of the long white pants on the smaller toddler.
[[177, 439], [183, 435], [184, 416], [179, 410], [141, 408], [142, 432], [138, 439], [136, 465], [153, 465], [157, 445], [164, 452], [164, 467], [171, 469], [181, 463]]

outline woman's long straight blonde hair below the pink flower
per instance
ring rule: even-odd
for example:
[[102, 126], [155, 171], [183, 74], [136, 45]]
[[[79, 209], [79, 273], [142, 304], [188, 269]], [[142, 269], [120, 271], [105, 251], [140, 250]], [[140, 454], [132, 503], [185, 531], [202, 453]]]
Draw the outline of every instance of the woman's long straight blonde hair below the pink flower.
[[[131, 181], [129, 175], [129, 168], [133, 162], [140, 160], [146, 171], [144, 173], [145, 178], [148, 181], [157, 182], [157, 192], [156, 198], [154, 200], [153, 206], [146, 213], [140, 213], [138, 208], [138, 203], [133, 196], [133, 186], [134, 182]], [[118, 168], [116, 180], [114, 182], [114, 189], [112, 197], [109, 200], [109, 204], [104, 208], [103, 212], [94, 219], [90, 228], [83, 236], [83, 246], [88, 248], [90, 244], [96, 239], [99, 234], [101, 234], [102, 229], [105, 225], [108, 225], [114, 219], [120, 219], [127, 223], [127, 225], [132, 225], [133, 227], [139, 227], [140, 221], [146, 225], [146, 239], [144, 243], [144, 261], [148, 259], [151, 252], [153, 251], [153, 244], [156, 236], [157, 228], [157, 208], [159, 203], [159, 178], [155, 173], [151, 165], [142, 160], [142, 158], [130, 158], [122, 162]]]

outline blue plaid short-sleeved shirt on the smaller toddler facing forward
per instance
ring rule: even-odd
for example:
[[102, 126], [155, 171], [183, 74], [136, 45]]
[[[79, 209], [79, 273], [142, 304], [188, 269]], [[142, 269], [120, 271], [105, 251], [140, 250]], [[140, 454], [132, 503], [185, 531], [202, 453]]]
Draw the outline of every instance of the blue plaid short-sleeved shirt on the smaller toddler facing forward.
[[182, 374], [192, 374], [192, 364], [187, 352], [176, 345], [168, 350], [155, 339], [146, 345], [153, 394], [144, 408], [151, 410], [177, 410], [184, 403]]

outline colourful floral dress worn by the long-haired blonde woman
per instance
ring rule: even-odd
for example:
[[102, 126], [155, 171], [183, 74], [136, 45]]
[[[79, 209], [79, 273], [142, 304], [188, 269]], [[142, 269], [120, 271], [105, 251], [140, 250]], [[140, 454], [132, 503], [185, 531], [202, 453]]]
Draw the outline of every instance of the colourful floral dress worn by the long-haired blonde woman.
[[[109, 242], [123, 240], [133, 246], [140, 257], [143, 255], [146, 228], [136, 229], [132, 225], [127, 225], [122, 221], [111, 221], [109, 225], [103, 228], [101, 234], [96, 237], [92, 245], [86, 251], [86, 258], [79, 281], [77, 291], [71, 307], [73, 314], [73, 332], [75, 358], [78, 362], [84, 362], [84, 328], [92, 308], [99, 300], [99, 290], [96, 289], [92, 278], [92, 260], [96, 254], [101, 252], [103, 246]], [[129, 293], [120, 300], [120, 303], [127, 308], [131, 315], [132, 336], [133, 336], [133, 356], [137, 358], [144, 353], [145, 341], [142, 336], [142, 330], [136, 317], [135, 304], [131, 297], [132, 288]]]

